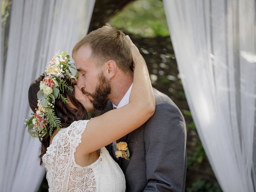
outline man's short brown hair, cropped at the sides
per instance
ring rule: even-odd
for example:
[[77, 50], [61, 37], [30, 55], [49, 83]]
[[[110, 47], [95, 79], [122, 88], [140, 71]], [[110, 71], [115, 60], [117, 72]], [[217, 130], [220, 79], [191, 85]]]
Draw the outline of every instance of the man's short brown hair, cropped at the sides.
[[80, 40], [72, 50], [72, 57], [82, 46], [90, 46], [92, 58], [98, 66], [108, 60], [114, 60], [123, 72], [132, 72], [132, 54], [125, 34], [109, 24], [94, 30]]

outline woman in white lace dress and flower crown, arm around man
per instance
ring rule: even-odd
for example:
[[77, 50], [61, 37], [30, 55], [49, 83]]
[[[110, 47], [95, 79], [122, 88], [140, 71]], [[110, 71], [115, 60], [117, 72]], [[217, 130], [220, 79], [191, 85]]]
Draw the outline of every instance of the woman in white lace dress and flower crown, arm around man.
[[[93, 106], [70, 78], [69, 56], [63, 52], [30, 85], [34, 114], [26, 124], [42, 142], [40, 164], [45, 164], [49, 191], [125, 191], [124, 174], [104, 146], [140, 127], [155, 109], [146, 63], [130, 38], [127, 41], [135, 69], [129, 104], [122, 108], [84, 120]], [[120, 158], [127, 160], [127, 151], [121, 152]]]

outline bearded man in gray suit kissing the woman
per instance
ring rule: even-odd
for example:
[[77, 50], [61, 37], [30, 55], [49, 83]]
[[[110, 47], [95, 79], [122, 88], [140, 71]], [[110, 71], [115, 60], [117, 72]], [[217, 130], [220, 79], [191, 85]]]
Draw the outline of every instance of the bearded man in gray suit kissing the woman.
[[[77, 85], [94, 108], [104, 113], [128, 104], [133, 70], [123, 32], [109, 25], [92, 31], [74, 46], [72, 57], [79, 73]], [[154, 96], [154, 115], [117, 141], [127, 142], [130, 161], [116, 158], [112, 145], [106, 148], [124, 172], [127, 192], [184, 192], [185, 120], [168, 96], [156, 89]]]

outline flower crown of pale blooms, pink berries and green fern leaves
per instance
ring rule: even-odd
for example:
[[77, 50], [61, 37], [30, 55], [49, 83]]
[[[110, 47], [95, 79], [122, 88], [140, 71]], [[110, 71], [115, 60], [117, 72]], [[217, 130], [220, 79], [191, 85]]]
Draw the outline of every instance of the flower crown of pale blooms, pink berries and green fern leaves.
[[35, 108], [36, 113], [32, 117], [26, 119], [26, 127], [28, 133], [35, 138], [39, 138], [42, 142], [42, 137], [46, 133], [52, 136], [54, 128], [60, 129], [61, 122], [54, 112], [55, 99], [61, 98], [65, 104], [69, 104], [67, 98], [60, 94], [60, 90], [64, 89], [73, 91], [73, 87], [69, 86], [64, 77], [68, 77], [71, 81], [72, 73], [70, 68], [74, 68], [74, 64], [69, 64], [69, 55], [66, 52], [57, 52], [48, 66], [46, 66], [43, 80], [40, 81], [40, 90], [37, 93], [38, 108]]

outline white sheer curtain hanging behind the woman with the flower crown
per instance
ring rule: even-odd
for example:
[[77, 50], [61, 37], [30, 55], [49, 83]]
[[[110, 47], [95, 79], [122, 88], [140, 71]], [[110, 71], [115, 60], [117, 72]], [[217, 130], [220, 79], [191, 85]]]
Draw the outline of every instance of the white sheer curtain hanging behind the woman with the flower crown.
[[55, 52], [71, 54], [87, 33], [93, 8], [94, 0], [12, 1], [0, 104], [0, 191], [38, 190], [45, 169], [39, 166], [40, 142], [24, 126], [24, 118], [32, 112], [28, 88]]

